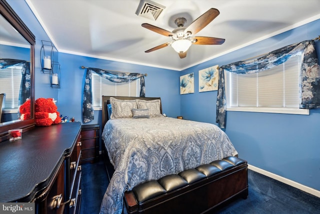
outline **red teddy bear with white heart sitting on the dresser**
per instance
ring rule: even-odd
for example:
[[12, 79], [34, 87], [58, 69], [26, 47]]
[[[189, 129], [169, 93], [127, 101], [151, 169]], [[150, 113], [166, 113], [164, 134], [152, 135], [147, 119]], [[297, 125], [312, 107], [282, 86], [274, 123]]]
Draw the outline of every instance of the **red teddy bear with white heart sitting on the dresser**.
[[35, 125], [50, 126], [61, 122], [60, 113], [52, 98], [38, 98], [34, 102]]

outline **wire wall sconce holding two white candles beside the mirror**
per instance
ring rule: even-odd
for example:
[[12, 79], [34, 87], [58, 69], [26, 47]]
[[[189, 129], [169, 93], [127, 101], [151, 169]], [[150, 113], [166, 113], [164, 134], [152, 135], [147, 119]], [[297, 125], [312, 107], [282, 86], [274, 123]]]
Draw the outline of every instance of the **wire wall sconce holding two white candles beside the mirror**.
[[60, 88], [60, 64], [58, 63], [58, 51], [49, 41], [41, 40], [40, 50], [41, 71], [50, 75], [51, 88]]

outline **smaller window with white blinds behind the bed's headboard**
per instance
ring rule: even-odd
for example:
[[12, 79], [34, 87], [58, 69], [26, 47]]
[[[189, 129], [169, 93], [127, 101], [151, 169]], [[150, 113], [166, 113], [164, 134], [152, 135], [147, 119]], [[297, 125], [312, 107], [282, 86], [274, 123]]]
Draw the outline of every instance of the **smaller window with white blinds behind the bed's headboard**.
[[102, 107], [102, 95], [138, 97], [140, 95], [140, 79], [127, 83], [113, 83], [92, 72], [93, 108]]

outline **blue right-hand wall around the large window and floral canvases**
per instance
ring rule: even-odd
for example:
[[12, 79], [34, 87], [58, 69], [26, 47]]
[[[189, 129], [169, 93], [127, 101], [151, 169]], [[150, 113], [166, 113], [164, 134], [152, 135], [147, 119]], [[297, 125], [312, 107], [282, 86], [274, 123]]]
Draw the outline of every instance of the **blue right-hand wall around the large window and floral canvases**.
[[[316, 38], [319, 29], [317, 20], [182, 71], [194, 72], [195, 93], [181, 95], [181, 115], [215, 124], [217, 92], [198, 92], [198, 70]], [[320, 42], [315, 43], [320, 57]], [[248, 164], [320, 190], [319, 128], [320, 109], [311, 109], [310, 115], [228, 111], [225, 133]]]

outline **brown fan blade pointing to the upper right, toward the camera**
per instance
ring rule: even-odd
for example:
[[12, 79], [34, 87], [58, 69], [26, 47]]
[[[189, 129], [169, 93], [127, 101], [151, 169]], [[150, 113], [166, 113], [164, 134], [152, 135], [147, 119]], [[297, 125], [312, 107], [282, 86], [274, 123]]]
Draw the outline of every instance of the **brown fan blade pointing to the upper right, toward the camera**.
[[194, 20], [189, 27], [187, 27], [184, 32], [191, 32], [192, 35], [195, 35], [199, 31], [201, 31], [205, 26], [207, 26], [215, 17], [217, 17], [220, 12], [215, 9], [211, 8], [196, 20]]

